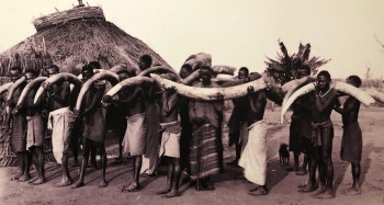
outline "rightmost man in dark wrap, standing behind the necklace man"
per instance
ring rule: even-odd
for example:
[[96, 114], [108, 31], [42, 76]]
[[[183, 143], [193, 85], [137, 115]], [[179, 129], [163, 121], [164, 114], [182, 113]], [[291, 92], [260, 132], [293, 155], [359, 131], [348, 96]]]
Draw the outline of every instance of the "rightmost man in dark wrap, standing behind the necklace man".
[[[359, 88], [361, 79], [358, 76], [350, 76], [347, 78], [347, 83]], [[359, 110], [360, 102], [353, 96], [348, 96], [342, 107], [335, 107], [335, 111], [341, 114], [343, 125], [340, 157], [342, 160], [351, 162], [352, 167], [353, 183], [351, 187], [343, 191], [343, 194], [347, 195], [361, 194], [359, 180], [363, 140], [358, 121]]]

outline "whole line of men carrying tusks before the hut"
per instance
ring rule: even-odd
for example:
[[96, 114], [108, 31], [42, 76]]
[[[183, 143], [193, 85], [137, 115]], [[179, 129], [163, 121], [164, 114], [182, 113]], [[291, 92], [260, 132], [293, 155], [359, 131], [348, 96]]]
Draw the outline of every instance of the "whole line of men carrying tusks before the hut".
[[[139, 71], [151, 67], [151, 57], [144, 55], [139, 59]], [[215, 75], [210, 66], [201, 65], [200, 79], [192, 83], [196, 88], [221, 87], [211, 79]], [[87, 64], [81, 69], [82, 80], [89, 80], [94, 70], [100, 69], [95, 61]], [[59, 73], [57, 66], [50, 66], [48, 77]], [[133, 78], [139, 72], [135, 69], [121, 67], [116, 70], [118, 80]], [[194, 70], [190, 65], [183, 65], [180, 77], [187, 78]], [[298, 78], [310, 73], [307, 66], [298, 69]], [[176, 88], [161, 89], [156, 83], [143, 87], [123, 89], [116, 96], [104, 95], [105, 82], [92, 84], [83, 98], [84, 110], [74, 110], [74, 94], [70, 83], [43, 83], [46, 92], [34, 103], [36, 89], [27, 93], [26, 101], [15, 106], [21, 91], [27, 82], [38, 73], [26, 69], [26, 79], [7, 102], [12, 112], [5, 122], [5, 129], [11, 134], [12, 150], [18, 155], [19, 173], [12, 178], [18, 181], [29, 181], [32, 184], [46, 182], [44, 172], [44, 136], [48, 128], [52, 132], [53, 152], [61, 164], [63, 176], [57, 186], [72, 184], [71, 187], [83, 185], [89, 157], [92, 166], [97, 167], [95, 153], [101, 159], [101, 181], [99, 186], [105, 187], [106, 152], [105, 133], [116, 129], [120, 138], [118, 160], [123, 153], [134, 158], [133, 178], [122, 187], [122, 192], [137, 192], [139, 176], [156, 175], [160, 158], [167, 162], [167, 184], [157, 193], [165, 197], [179, 196], [181, 172], [184, 171], [191, 184], [197, 191], [215, 189], [211, 176], [224, 172], [223, 144], [221, 124], [223, 122], [224, 100], [202, 101], [179, 95]], [[163, 78], [176, 81], [172, 73]], [[12, 81], [22, 77], [22, 69], [10, 69]], [[245, 67], [239, 69], [238, 81], [248, 82], [261, 78], [259, 73], [249, 73]], [[359, 77], [351, 76], [347, 82], [359, 87]], [[334, 168], [331, 161], [334, 128], [330, 121], [332, 110], [342, 114], [345, 134], [341, 157], [351, 161], [353, 185], [349, 194], [360, 193], [359, 175], [361, 159], [361, 130], [358, 126], [360, 103], [349, 98], [340, 107], [337, 93], [330, 88], [330, 75], [320, 71], [317, 76], [316, 90], [300, 100], [293, 106], [291, 123], [290, 147], [295, 151], [295, 170], [298, 168], [298, 155], [304, 152], [309, 164], [308, 183], [300, 192], [317, 192], [319, 198], [332, 197]], [[223, 84], [223, 86], [230, 86]], [[234, 100], [234, 111], [229, 119], [229, 146], [236, 145], [236, 159], [230, 166], [244, 168], [245, 178], [257, 186], [250, 190], [251, 195], [268, 194], [267, 187], [267, 127], [263, 121], [267, 99], [282, 103], [281, 88], [269, 86], [261, 91], [248, 88], [248, 94]], [[113, 121], [113, 123], [109, 122]], [[11, 126], [12, 125], [12, 126]], [[48, 127], [46, 127], [48, 125]], [[12, 129], [10, 129], [12, 127]], [[355, 133], [359, 133], [357, 135]], [[160, 137], [161, 136], [161, 137]], [[354, 137], [351, 145], [349, 137]], [[70, 150], [74, 163], [78, 164], [78, 147], [82, 145], [82, 162], [80, 178], [72, 183], [68, 170]], [[357, 148], [358, 147], [358, 148]], [[36, 178], [31, 179], [30, 164], [34, 159]], [[306, 166], [305, 166], [306, 167]], [[317, 169], [318, 168], [318, 169]], [[316, 183], [318, 170], [320, 187]]]

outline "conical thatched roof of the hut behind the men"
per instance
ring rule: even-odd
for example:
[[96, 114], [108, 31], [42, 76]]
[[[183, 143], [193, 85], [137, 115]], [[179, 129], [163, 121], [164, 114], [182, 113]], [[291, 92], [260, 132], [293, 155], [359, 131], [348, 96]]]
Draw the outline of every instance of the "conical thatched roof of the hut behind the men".
[[169, 65], [140, 39], [105, 21], [99, 7], [77, 7], [34, 21], [37, 33], [0, 54], [0, 76], [12, 66], [42, 69], [52, 64], [69, 67], [98, 60], [109, 69], [125, 62], [138, 67], [144, 54], [154, 64]]

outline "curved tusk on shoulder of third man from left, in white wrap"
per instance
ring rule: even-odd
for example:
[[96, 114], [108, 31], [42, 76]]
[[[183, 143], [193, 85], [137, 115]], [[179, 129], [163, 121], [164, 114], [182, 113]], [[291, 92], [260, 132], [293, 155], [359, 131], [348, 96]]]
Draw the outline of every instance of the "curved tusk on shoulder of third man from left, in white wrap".
[[[76, 88], [79, 88], [82, 86], [81, 80], [77, 76], [69, 72], [60, 72], [45, 80], [45, 82], [49, 84], [55, 84], [64, 81], [68, 81], [69, 83], [74, 84]], [[45, 89], [43, 87], [38, 88], [35, 99], [33, 100], [34, 103], [37, 102], [39, 96], [43, 94], [44, 90]]]

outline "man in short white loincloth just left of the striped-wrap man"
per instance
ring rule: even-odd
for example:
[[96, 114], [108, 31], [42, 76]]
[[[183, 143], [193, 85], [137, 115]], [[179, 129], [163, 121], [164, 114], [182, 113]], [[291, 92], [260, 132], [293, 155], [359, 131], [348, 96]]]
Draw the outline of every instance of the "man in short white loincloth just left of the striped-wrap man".
[[[165, 78], [176, 81], [173, 75], [165, 75]], [[167, 186], [158, 191], [158, 194], [167, 194], [163, 197], [179, 196], [180, 182], [180, 135], [181, 126], [178, 121], [180, 101], [174, 88], [167, 89], [162, 93], [160, 110], [160, 127], [162, 132], [160, 157], [167, 160]]]

